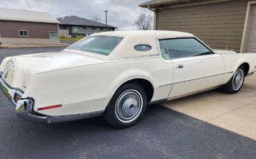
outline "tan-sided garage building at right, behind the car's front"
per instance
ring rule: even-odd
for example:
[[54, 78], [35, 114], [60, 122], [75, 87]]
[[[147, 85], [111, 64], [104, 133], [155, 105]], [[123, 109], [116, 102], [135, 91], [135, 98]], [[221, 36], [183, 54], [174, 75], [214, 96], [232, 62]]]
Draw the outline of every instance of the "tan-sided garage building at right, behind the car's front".
[[256, 53], [256, 1], [153, 0], [155, 30], [191, 32], [212, 48]]

